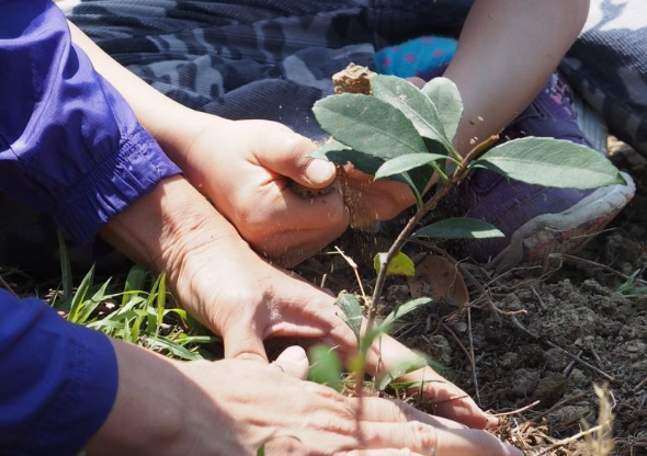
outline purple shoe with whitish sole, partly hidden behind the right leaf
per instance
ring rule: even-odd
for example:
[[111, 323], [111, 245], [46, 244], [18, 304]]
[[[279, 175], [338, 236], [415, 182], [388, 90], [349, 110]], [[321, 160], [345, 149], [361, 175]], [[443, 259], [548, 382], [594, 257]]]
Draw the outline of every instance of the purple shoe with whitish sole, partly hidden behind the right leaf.
[[[525, 136], [591, 147], [578, 126], [570, 90], [557, 73], [501, 135], [503, 139]], [[454, 216], [477, 218], [503, 231], [506, 238], [466, 241], [459, 247], [462, 256], [502, 271], [583, 247], [634, 196], [634, 182], [623, 176], [626, 185], [578, 191], [530, 185], [479, 170], [453, 192], [444, 207], [451, 207]]]

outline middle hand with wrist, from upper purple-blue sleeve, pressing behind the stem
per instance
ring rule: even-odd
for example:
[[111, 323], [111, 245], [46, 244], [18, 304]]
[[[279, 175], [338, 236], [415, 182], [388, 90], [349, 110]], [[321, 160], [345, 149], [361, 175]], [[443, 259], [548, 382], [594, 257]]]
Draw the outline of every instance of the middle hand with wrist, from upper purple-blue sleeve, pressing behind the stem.
[[[179, 301], [223, 337], [227, 357], [266, 362], [263, 341], [274, 337], [324, 341], [339, 346], [342, 357], [356, 349], [354, 334], [337, 316], [333, 297], [259, 258], [180, 176], [163, 180], [101, 235], [134, 260], [167, 271]], [[373, 350], [368, 360], [373, 373], [394, 367], [411, 353], [390, 338], [379, 345], [381, 353]], [[431, 369], [416, 375], [442, 378]], [[464, 391], [444, 379], [427, 384], [423, 394], [441, 402], [438, 412], [445, 418], [473, 428], [491, 423]]]

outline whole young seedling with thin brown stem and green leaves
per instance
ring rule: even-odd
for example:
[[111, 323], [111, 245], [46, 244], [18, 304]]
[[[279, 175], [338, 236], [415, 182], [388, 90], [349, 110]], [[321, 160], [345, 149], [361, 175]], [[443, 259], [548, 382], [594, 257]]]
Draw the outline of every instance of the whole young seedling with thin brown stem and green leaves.
[[[371, 94], [342, 93], [318, 101], [314, 112], [331, 140], [310, 153], [339, 166], [351, 162], [355, 169], [377, 179], [402, 182], [412, 192], [417, 212], [387, 252], [375, 256], [377, 280], [371, 298], [365, 331], [360, 331], [361, 306], [352, 295], [342, 295], [337, 305], [340, 317], [357, 338], [359, 354], [351, 363], [356, 373], [356, 391], [361, 391], [366, 353], [395, 320], [431, 303], [430, 298], [404, 304], [384, 321], [376, 322], [376, 311], [386, 277], [411, 275], [413, 263], [401, 251], [412, 238], [483, 239], [502, 237], [490, 224], [465, 217], [450, 218], [420, 226], [453, 186], [477, 169], [488, 169], [506, 178], [553, 187], [594, 189], [624, 184], [618, 170], [597, 151], [570, 141], [527, 137], [497, 145], [498, 137], [476, 144], [462, 156], [454, 137], [463, 115], [463, 102], [456, 86], [446, 78], [435, 78], [418, 90], [408, 81], [391, 76], [374, 76]], [[432, 175], [438, 185], [428, 191]], [[318, 363], [319, 361], [316, 361]], [[422, 361], [409, 362], [410, 371]], [[387, 373], [395, 379], [407, 372]], [[339, 373], [341, 375], [341, 373]], [[383, 386], [383, 379], [377, 385]]]

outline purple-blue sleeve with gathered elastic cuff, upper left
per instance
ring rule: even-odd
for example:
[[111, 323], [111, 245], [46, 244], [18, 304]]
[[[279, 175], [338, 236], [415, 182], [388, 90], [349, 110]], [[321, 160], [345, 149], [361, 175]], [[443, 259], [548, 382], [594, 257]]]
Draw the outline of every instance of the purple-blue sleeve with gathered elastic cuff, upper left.
[[0, 0], [0, 191], [52, 215], [80, 247], [180, 172], [50, 1]]

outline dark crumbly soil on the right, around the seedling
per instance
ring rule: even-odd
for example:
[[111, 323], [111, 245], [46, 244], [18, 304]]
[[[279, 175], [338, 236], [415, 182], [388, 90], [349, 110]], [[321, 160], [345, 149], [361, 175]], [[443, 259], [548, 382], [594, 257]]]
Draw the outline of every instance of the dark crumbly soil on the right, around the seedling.
[[[595, 425], [600, 400], [593, 384], [605, 383], [615, 415], [614, 454], [647, 455], [647, 290], [637, 296], [618, 292], [631, 274], [647, 266], [647, 160], [622, 144], [611, 149], [616, 166], [634, 176], [637, 194], [577, 256], [556, 255], [544, 265], [502, 275], [461, 263], [469, 304], [440, 299], [409, 315], [395, 332], [445, 366], [443, 373], [484, 409], [508, 412], [496, 433], [527, 455], [592, 454], [582, 440], [546, 448], [579, 433], [581, 420]], [[354, 236], [345, 248], [371, 288], [371, 261], [356, 249], [366, 242], [356, 237], [375, 237]], [[370, 244], [365, 250], [372, 254], [384, 251]], [[333, 292], [357, 292], [340, 258], [317, 256], [302, 267], [317, 283], [324, 271]], [[410, 286], [393, 280], [385, 297], [383, 310], [388, 311], [411, 298]]]

